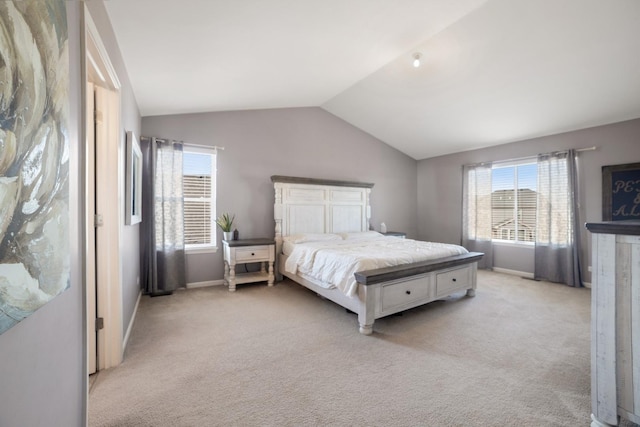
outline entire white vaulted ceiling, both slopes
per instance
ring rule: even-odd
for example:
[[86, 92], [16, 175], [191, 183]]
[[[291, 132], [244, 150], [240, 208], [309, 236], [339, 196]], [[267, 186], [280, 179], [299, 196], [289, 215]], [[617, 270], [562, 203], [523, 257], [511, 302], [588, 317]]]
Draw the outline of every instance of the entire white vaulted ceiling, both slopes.
[[105, 5], [143, 116], [320, 106], [415, 159], [640, 117], [639, 0]]

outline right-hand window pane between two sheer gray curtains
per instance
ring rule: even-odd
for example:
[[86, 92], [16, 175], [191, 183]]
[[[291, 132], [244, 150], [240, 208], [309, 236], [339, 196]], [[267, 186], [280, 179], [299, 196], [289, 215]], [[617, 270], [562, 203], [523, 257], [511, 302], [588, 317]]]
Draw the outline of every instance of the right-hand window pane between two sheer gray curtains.
[[538, 166], [535, 160], [494, 164], [491, 171], [491, 238], [536, 241]]

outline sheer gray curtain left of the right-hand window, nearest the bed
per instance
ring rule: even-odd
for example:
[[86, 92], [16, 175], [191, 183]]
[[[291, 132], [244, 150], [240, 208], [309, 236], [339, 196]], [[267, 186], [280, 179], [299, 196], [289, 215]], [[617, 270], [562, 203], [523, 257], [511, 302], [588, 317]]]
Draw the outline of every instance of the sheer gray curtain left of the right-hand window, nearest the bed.
[[462, 246], [483, 252], [480, 268], [493, 268], [491, 243], [491, 163], [466, 165], [462, 184]]

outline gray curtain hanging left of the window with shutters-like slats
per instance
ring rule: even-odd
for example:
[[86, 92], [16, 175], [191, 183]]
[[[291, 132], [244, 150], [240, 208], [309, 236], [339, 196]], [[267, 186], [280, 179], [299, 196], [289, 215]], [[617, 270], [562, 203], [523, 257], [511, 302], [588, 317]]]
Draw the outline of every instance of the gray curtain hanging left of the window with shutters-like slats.
[[182, 144], [143, 137], [141, 148], [141, 280], [145, 293], [165, 295], [186, 286]]

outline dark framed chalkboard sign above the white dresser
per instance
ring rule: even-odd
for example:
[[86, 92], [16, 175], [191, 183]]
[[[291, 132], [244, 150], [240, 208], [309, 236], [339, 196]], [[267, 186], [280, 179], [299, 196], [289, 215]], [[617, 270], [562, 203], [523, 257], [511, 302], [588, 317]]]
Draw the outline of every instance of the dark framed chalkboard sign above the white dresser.
[[602, 167], [602, 220], [640, 220], [640, 163]]

